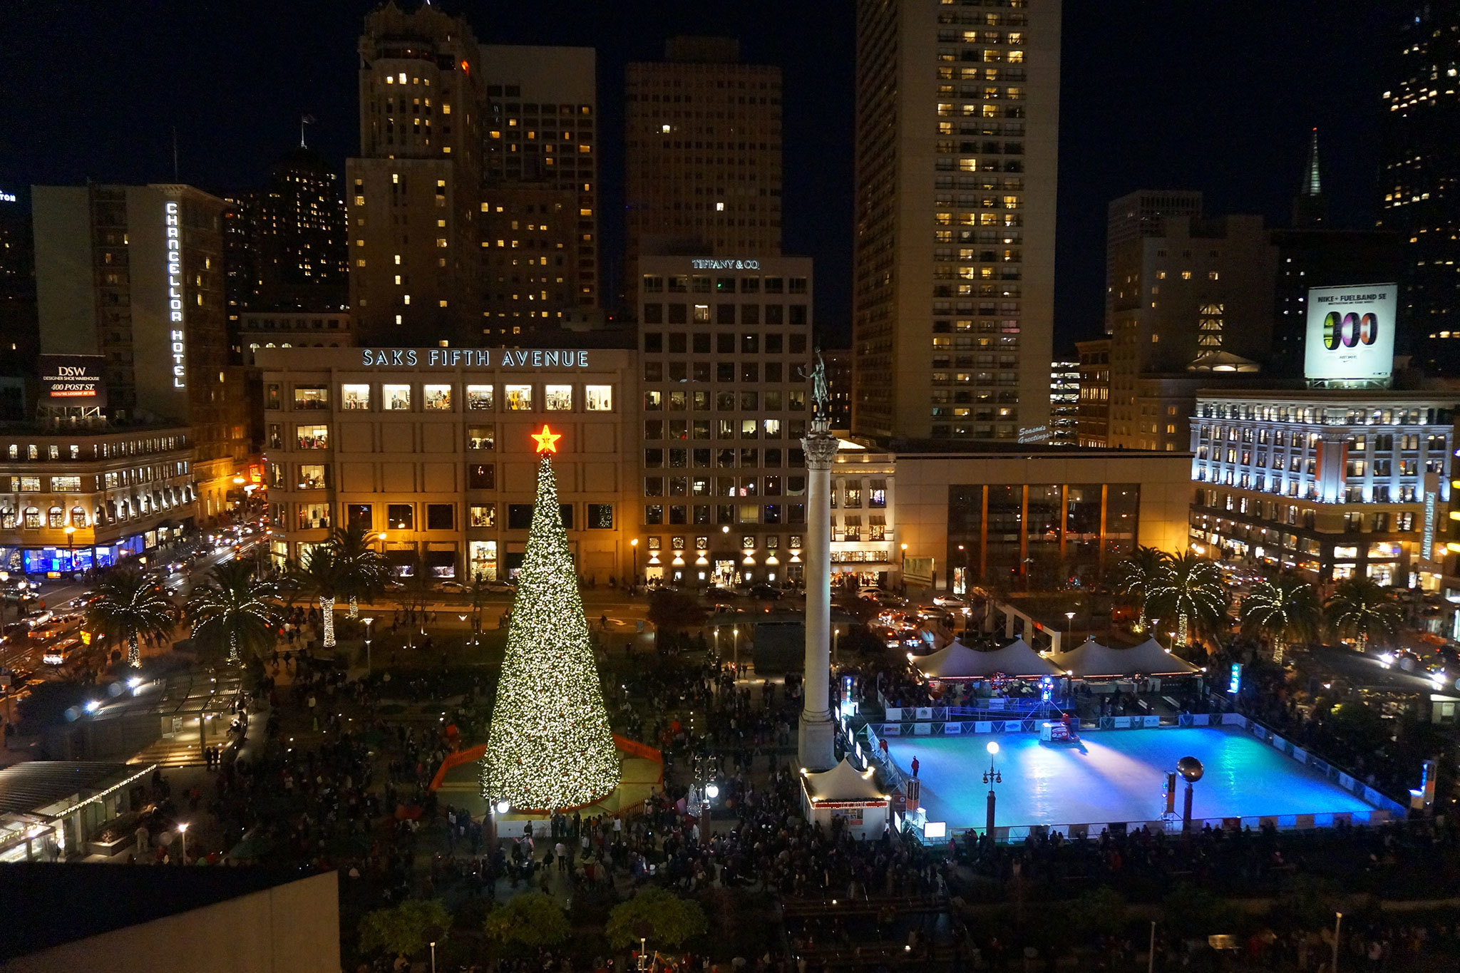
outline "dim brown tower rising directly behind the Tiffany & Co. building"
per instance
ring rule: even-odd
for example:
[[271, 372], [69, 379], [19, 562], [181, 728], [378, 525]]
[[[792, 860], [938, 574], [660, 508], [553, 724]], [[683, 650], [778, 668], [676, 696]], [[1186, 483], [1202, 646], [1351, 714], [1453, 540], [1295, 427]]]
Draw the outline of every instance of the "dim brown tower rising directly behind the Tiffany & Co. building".
[[680, 36], [625, 82], [628, 257], [778, 257], [781, 71], [730, 38]]

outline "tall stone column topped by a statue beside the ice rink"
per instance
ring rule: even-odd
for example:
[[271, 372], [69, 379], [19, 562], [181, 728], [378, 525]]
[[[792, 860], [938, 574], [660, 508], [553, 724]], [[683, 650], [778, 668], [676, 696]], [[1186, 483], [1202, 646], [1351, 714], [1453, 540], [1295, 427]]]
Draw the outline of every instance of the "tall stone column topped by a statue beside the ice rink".
[[816, 353], [812, 372], [812, 430], [802, 439], [810, 503], [806, 512], [806, 686], [800, 726], [800, 759], [807, 770], [837, 763], [831, 718], [831, 462], [841, 445], [831, 435], [826, 365]]

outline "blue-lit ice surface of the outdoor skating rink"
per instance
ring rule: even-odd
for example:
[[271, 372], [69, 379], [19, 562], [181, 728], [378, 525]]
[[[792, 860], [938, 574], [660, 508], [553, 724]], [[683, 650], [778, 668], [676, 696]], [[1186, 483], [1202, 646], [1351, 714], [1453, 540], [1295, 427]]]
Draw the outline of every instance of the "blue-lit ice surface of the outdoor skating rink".
[[[1197, 820], [1374, 810], [1235, 726], [1085, 732], [1083, 750], [1042, 744], [1038, 734], [891, 737], [888, 747], [904, 770], [911, 772], [917, 757], [929, 821], [981, 830], [990, 740], [999, 741], [994, 766], [1003, 773], [1003, 783], [994, 785], [1000, 827], [1159, 820], [1167, 773], [1187, 756], [1204, 767], [1191, 802]], [[1180, 778], [1177, 786], [1180, 814], [1186, 788]]]

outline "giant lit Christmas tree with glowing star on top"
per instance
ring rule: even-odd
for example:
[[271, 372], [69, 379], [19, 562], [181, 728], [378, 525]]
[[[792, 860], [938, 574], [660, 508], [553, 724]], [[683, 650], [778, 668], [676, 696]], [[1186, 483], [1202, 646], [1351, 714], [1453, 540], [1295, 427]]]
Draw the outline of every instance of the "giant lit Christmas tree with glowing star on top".
[[543, 454], [537, 499], [482, 759], [482, 794], [488, 802], [548, 811], [606, 796], [619, 783], [619, 756], [558, 508], [549, 454], [561, 436], [543, 426], [533, 438]]

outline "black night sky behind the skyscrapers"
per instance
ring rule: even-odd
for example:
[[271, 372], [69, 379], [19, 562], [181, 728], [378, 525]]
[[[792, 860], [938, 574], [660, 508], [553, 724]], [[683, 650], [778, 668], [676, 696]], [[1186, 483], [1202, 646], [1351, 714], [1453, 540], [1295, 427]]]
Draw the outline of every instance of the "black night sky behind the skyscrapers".
[[[9, 0], [0, 58], [0, 188], [261, 182], [298, 142], [336, 162], [358, 147], [356, 38], [374, 0], [55, 3]], [[623, 64], [672, 34], [740, 38], [785, 80], [787, 252], [816, 258], [818, 322], [850, 336], [854, 20], [851, 0], [473, 3], [479, 41], [599, 51], [603, 255], [618, 273]], [[1105, 206], [1130, 190], [1194, 188], [1212, 213], [1288, 220], [1310, 127], [1332, 222], [1371, 226], [1380, 95], [1393, 36], [1380, 4], [1066, 0], [1056, 354], [1101, 333]]]

